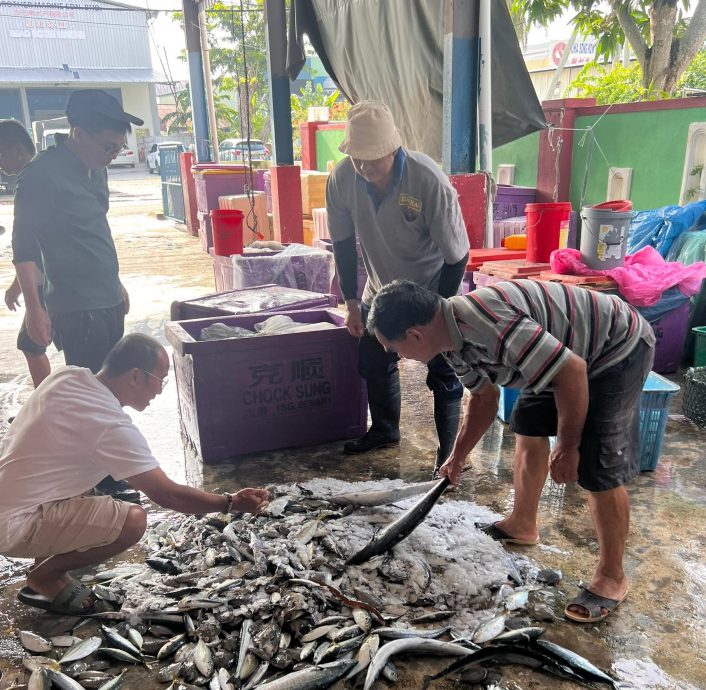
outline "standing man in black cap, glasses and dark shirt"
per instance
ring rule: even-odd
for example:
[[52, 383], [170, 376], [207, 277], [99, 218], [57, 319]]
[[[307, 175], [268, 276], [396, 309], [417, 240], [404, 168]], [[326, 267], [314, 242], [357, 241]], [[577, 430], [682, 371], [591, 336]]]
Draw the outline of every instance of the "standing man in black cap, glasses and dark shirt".
[[[122, 337], [129, 309], [107, 219], [106, 166], [125, 145], [130, 125], [143, 121], [97, 89], [72, 93], [66, 116], [69, 135], [18, 178], [13, 262], [30, 338], [39, 345], [53, 338], [67, 364], [95, 374]], [[37, 290], [42, 262], [46, 310]]]

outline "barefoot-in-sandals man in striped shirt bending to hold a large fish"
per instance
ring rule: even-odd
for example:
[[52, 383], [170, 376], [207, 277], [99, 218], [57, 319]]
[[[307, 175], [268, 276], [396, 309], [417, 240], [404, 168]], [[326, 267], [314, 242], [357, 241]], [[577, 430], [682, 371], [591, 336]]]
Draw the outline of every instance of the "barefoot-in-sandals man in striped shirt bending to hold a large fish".
[[522, 389], [510, 419], [515, 505], [481, 529], [498, 541], [536, 544], [547, 473], [559, 484], [578, 481], [589, 492], [600, 558], [565, 615], [578, 622], [605, 618], [627, 595], [625, 484], [639, 472], [639, 402], [655, 343], [649, 324], [618, 297], [561, 283], [508, 281], [442, 299], [394, 281], [373, 300], [368, 328], [402, 357], [427, 362], [442, 353], [470, 391], [441, 468], [452, 484], [493, 423], [497, 386]]

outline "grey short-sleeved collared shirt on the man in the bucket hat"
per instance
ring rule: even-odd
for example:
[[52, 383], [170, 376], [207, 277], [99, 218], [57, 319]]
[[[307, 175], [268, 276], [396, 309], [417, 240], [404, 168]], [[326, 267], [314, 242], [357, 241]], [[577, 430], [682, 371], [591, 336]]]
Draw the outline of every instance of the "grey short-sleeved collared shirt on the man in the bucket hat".
[[458, 263], [469, 249], [456, 190], [429, 156], [400, 149], [389, 191], [374, 198], [350, 158], [326, 186], [328, 227], [334, 242], [355, 235], [368, 273], [363, 302], [395, 279], [436, 291], [444, 263]]

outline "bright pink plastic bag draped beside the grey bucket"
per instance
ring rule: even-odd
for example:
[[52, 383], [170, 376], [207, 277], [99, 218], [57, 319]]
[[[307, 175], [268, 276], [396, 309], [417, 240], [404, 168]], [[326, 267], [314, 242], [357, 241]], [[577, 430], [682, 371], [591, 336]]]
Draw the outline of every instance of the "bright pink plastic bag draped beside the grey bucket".
[[594, 271], [581, 261], [576, 249], [557, 249], [549, 259], [555, 273], [579, 276], [605, 275], [618, 283], [620, 294], [636, 307], [656, 304], [662, 293], [675, 285], [687, 297], [696, 294], [706, 278], [706, 263], [684, 266], [665, 261], [654, 247], [643, 247], [625, 257], [625, 265], [607, 271]]

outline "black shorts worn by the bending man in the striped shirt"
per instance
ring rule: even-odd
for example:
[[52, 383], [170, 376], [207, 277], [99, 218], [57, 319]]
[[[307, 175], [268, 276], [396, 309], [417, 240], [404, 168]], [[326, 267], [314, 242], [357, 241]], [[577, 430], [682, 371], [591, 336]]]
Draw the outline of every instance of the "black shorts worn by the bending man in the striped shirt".
[[[579, 447], [579, 486], [608, 491], [640, 472], [640, 396], [654, 348], [640, 340], [615, 366], [588, 381], [588, 413]], [[510, 417], [521, 436], [556, 436], [554, 394], [522, 392]]]

